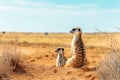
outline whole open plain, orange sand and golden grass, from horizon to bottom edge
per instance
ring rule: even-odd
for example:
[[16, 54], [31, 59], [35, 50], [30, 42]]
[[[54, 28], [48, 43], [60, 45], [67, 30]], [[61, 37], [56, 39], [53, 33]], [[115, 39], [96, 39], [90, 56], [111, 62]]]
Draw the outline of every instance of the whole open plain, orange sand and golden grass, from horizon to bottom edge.
[[[70, 43], [73, 35], [69, 33], [0, 33], [0, 47], [4, 44], [13, 46], [15, 38], [18, 40], [18, 49], [23, 58], [20, 64], [26, 73], [13, 72], [13, 80], [98, 80], [96, 71], [90, 68], [97, 67], [106, 54], [113, 47], [119, 49], [120, 34], [84, 33], [82, 38], [88, 59], [87, 66], [79, 69], [71, 67], [56, 68], [56, 47], [65, 48], [65, 56], [70, 57]], [[114, 45], [115, 41], [117, 42]]]

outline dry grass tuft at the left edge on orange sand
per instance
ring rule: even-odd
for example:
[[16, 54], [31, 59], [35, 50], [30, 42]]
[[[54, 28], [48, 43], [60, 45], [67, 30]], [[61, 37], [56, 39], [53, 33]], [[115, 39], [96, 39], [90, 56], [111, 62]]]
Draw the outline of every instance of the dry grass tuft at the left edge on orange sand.
[[4, 47], [0, 58], [0, 77], [6, 77], [19, 65], [20, 55], [16, 48]]

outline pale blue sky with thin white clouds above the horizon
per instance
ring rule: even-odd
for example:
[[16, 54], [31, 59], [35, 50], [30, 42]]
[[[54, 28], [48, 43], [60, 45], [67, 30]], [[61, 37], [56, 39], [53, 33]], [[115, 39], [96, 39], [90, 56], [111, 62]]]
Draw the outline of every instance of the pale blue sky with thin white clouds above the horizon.
[[0, 31], [118, 32], [120, 0], [0, 0]]

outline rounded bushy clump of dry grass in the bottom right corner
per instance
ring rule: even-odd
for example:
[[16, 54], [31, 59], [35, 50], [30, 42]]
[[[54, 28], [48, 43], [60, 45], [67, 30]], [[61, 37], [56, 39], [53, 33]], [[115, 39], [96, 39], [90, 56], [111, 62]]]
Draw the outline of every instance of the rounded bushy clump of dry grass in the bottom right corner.
[[105, 57], [97, 72], [100, 80], [120, 80], [120, 54], [113, 52]]

